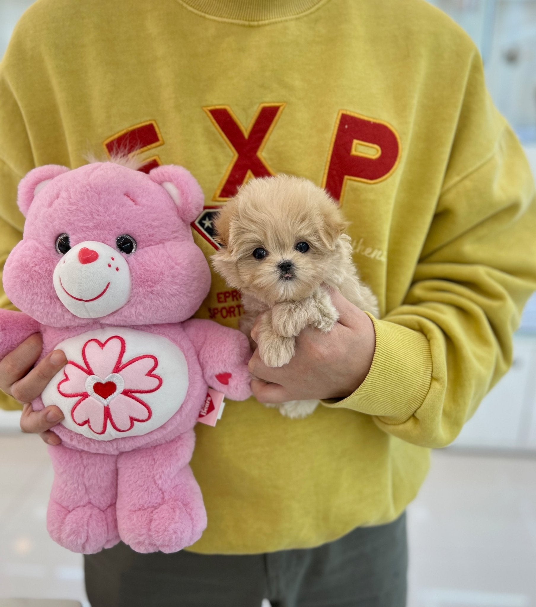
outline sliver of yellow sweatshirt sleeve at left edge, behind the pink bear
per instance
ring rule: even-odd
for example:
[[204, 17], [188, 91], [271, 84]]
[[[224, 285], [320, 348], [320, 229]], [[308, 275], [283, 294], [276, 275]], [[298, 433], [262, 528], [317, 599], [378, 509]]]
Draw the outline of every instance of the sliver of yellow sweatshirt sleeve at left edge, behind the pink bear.
[[[34, 166], [32, 148], [21, 109], [0, 64], [0, 274], [12, 248], [22, 238], [24, 217], [19, 211], [18, 183]], [[14, 310], [0, 283], [0, 307]], [[1, 409], [20, 409], [18, 402], [0, 391]]]

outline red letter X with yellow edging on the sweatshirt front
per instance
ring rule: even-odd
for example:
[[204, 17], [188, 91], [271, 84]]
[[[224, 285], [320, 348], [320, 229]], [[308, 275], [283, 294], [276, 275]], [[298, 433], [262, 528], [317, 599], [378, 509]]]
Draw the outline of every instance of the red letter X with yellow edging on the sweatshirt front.
[[228, 200], [252, 176], [274, 175], [262, 158], [262, 150], [285, 105], [261, 103], [247, 130], [229, 106], [203, 107], [234, 155], [212, 200]]

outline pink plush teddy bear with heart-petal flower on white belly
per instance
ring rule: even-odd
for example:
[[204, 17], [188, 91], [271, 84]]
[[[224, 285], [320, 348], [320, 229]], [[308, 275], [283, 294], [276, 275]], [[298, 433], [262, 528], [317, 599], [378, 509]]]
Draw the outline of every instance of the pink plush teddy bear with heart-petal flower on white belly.
[[49, 447], [50, 535], [86, 554], [189, 546], [206, 527], [189, 461], [207, 389], [251, 394], [246, 337], [188, 320], [211, 280], [189, 226], [200, 186], [172, 165], [49, 165], [24, 177], [18, 205], [4, 287], [22, 313], [0, 310], [0, 358], [40, 332], [42, 356], [69, 361], [32, 403], [65, 416]]

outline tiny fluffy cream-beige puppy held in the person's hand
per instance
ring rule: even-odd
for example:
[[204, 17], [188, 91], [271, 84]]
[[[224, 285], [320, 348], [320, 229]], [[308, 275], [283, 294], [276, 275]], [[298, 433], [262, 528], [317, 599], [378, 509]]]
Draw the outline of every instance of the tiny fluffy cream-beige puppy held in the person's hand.
[[[375, 316], [376, 297], [352, 262], [347, 222], [327, 192], [311, 181], [278, 175], [249, 181], [215, 220], [222, 248], [212, 263], [229, 286], [242, 291], [240, 328], [249, 336], [258, 314], [259, 355], [281, 367], [294, 355], [295, 337], [307, 325], [329, 331], [338, 313], [326, 285]], [[319, 401], [278, 405], [304, 417]]]

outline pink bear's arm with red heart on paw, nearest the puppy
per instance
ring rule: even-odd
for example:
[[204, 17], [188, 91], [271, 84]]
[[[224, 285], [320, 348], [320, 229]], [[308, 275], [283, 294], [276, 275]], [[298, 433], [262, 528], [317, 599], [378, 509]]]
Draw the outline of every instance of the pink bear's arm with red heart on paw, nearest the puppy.
[[183, 328], [197, 351], [207, 384], [234, 401], [249, 398], [251, 350], [247, 337], [213, 320], [193, 318], [186, 320]]

